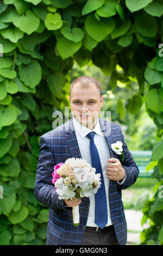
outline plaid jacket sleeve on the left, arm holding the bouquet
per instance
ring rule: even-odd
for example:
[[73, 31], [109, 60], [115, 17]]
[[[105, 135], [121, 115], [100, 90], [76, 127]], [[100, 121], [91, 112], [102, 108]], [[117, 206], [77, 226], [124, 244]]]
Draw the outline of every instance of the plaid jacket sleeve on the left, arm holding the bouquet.
[[58, 199], [58, 194], [52, 184], [54, 165], [55, 160], [51, 145], [46, 137], [41, 136], [34, 194], [41, 204], [45, 204], [50, 208], [65, 209], [64, 200]]

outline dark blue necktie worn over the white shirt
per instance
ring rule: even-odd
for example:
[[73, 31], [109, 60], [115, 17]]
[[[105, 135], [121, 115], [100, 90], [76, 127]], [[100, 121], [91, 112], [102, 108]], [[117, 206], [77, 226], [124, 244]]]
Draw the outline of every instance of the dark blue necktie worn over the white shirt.
[[92, 167], [96, 168], [96, 173], [101, 174], [101, 187], [98, 188], [97, 193], [95, 194], [95, 223], [103, 229], [108, 223], [108, 209], [106, 203], [106, 193], [103, 172], [101, 167], [101, 162], [99, 159], [98, 150], [94, 143], [95, 132], [90, 132], [87, 134], [87, 137], [90, 139], [90, 153], [92, 159]]

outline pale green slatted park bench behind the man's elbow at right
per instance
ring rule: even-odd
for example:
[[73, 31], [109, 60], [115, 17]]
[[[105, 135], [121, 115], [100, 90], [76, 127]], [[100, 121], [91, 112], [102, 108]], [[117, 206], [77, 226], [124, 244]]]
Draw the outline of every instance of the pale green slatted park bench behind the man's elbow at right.
[[130, 151], [137, 167], [139, 168], [139, 177], [151, 177], [153, 169], [146, 171], [147, 165], [151, 162], [152, 151]]

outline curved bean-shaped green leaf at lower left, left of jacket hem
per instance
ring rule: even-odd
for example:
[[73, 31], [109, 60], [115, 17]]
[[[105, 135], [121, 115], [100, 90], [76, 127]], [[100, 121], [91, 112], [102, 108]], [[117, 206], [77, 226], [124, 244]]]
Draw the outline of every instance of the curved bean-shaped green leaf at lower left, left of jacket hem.
[[8, 216], [9, 221], [12, 224], [21, 223], [28, 217], [28, 208], [26, 206], [22, 206], [18, 211], [12, 211]]

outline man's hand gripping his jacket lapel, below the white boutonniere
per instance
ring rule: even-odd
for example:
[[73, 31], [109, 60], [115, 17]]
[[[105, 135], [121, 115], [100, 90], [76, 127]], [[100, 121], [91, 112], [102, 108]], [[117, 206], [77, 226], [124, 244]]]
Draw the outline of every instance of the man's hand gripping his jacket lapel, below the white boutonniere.
[[121, 165], [120, 160], [115, 158], [108, 159], [106, 164], [106, 175], [109, 180], [120, 181], [125, 178], [125, 170]]

